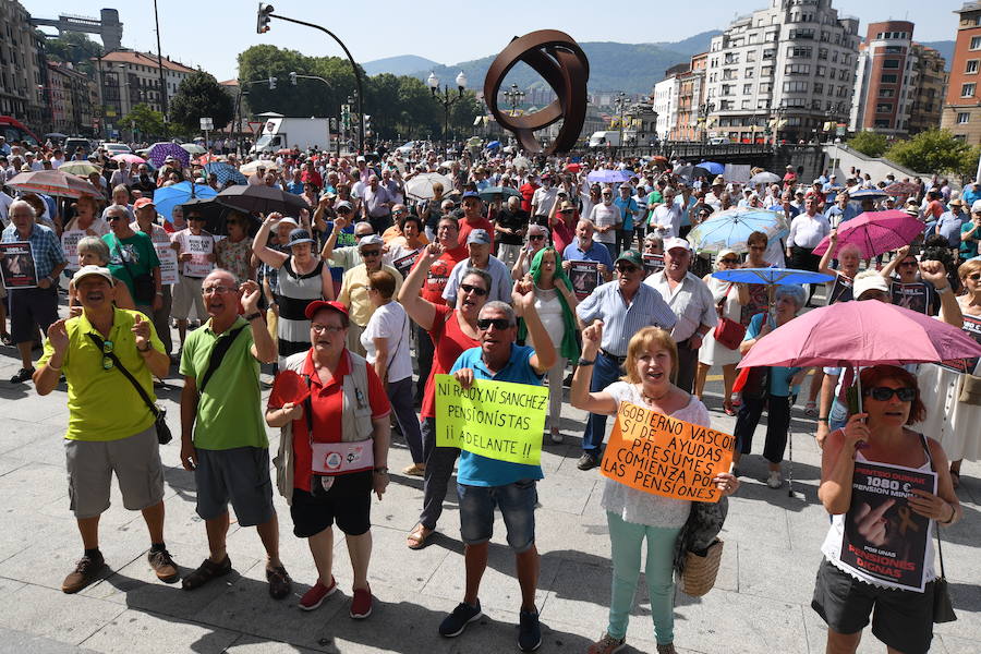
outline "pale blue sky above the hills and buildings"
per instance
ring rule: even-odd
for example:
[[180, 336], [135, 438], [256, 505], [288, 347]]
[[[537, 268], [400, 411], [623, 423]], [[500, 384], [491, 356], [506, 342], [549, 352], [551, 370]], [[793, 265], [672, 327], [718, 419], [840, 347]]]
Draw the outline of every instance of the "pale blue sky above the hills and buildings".
[[[20, 1], [32, 15], [52, 19], [60, 13], [98, 16], [100, 8], [113, 5], [112, 0]], [[595, 0], [536, 0], [507, 4], [523, 8], [512, 13], [501, 11], [505, 5], [499, 2], [445, 0], [277, 0], [272, 4], [277, 13], [324, 25], [346, 43], [358, 61], [417, 55], [449, 64], [498, 52], [512, 36], [544, 28], [561, 29], [580, 41], [675, 41], [706, 29], [722, 29], [737, 14], [761, 9], [767, 1], [772, 0], [652, 2], [645, 7]], [[235, 56], [256, 44], [289, 47], [312, 56], [342, 55], [320, 32], [275, 19], [271, 32], [257, 35], [258, 2], [251, 0], [158, 0], [158, 5], [164, 53], [193, 66], [201, 65], [219, 80], [234, 77]], [[955, 38], [957, 22], [952, 12], [960, 2], [834, 0], [834, 5], [839, 14], [859, 17], [860, 34], [864, 34], [869, 22], [908, 20], [916, 23], [917, 40], [933, 41]], [[609, 8], [614, 7], [616, 13], [610, 15]], [[692, 14], [694, 7], [698, 12]], [[153, 0], [126, 0], [116, 8], [123, 22], [123, 46], [156, 50]]]

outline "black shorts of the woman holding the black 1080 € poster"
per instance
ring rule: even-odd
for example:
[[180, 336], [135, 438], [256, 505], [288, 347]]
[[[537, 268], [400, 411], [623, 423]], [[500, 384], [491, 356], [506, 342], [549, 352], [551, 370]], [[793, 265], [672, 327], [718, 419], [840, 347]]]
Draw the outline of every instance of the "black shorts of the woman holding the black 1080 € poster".
[[[869, 623], [872, 633], [904, 654], [930, 650], [933, 639], [933, 589], [922, 593], [884, 589], [860, 581], [824, 559], [818, 569], [811, 608], [838, 633], [858, 633]], [[873, 613], [874, 609], [874, 613]]]

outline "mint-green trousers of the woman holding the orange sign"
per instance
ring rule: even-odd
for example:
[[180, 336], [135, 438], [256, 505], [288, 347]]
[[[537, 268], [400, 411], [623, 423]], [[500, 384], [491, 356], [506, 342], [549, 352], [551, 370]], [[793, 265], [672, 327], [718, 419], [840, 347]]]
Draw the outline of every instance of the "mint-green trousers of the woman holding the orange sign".
[[609, 627], [614, 638], [627, 635], [627, 622], [633, 607], [637, 581], [640, 578], [641, 545], [647, 541], [644, 577], [651, 597], [651, 619], [658, 645], [675, 640], [675, 542], [679, 526], [647, 526], [627, 522], [616, 513], [606, 512], [613, 559], [613, 594], [609, 603]]

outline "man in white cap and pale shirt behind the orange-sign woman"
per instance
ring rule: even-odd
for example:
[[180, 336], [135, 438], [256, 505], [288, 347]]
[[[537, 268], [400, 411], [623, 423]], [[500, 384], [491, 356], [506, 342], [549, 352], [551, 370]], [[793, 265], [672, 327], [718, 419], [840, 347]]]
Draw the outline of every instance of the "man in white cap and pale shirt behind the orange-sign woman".
[[664, 269], [652, 274], [644, 283], [655, 289], [667, 302], [677, 322], [671, 338], [678, 344], [678, 388], [691, 392], [699, 363], [699, 348], [718, 317], [715, 300], [704, 281], [688, 271], [691, 245], [685, 239], [664, 242]]

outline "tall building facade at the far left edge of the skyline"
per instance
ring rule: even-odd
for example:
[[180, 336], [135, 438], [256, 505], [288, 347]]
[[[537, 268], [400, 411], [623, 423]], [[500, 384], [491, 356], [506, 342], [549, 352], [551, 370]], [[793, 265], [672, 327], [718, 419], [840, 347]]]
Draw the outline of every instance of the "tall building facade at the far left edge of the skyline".
[[47, 86], [44, 38], [20, 2], [0, 0], [0, 114], [43, 131]]

